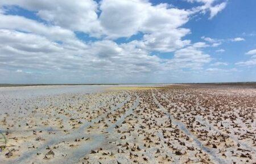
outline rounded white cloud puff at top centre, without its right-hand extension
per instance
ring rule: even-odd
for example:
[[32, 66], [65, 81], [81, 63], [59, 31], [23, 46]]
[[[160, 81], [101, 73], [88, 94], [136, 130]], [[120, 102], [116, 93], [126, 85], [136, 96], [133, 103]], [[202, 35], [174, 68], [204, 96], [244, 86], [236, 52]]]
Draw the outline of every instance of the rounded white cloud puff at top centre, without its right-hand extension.
[[150, 6], [142, 1], [101, 1], [101, 25], [109, 37], [132, 36], [141, 29]]

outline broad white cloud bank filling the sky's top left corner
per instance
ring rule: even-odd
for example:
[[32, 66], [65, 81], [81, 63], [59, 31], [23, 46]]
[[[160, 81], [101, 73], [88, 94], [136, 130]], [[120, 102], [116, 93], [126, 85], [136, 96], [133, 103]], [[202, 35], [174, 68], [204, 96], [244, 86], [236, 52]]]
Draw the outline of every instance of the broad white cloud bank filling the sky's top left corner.
[[[36, 11], [36, 15], [72, 31], [82, 31], [95, 34], [100, 32], [100, 23], [97, 16], [97, 3], [93, 0], [53, 0], [53, 1], [26, 1], [14, 0], [0, 2], [0, 5], [18, 5], [27, 10]], [[55, 5], [53, 5], [55, 4]]]

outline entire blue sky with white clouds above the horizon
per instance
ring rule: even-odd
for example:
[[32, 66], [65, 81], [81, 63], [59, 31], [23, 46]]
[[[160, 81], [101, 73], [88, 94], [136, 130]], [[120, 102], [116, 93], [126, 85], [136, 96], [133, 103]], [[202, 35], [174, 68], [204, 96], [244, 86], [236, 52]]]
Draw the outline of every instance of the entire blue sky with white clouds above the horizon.
[[1, 0], [0, 83], [256, 81], [254, 0]]

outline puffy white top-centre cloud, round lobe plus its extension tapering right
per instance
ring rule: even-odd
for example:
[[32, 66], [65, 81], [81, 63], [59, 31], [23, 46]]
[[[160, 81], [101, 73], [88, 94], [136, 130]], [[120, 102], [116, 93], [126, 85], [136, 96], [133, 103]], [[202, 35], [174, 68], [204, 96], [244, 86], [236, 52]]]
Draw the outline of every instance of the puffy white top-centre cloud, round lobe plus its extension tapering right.
[[100, 10], [101, 25], [110, 37], [175, 29], [187, 23], [189, 16], [188, 11], [169, 8], [167, 4], [152, 6], [140, 0], [103, 0]]

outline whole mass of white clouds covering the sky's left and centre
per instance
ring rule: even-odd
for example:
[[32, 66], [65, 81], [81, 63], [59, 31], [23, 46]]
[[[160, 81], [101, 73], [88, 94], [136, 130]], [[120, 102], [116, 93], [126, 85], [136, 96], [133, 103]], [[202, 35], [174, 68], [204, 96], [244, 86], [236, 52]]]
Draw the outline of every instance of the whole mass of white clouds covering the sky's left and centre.
[[[197, 2], [204, 7], [210, 4], [208, 9], [201, 6], [197, 12], [209, 10], [216, 15], [220, 11], [210, 9], [216, 7], [213, 2]], [[35, 78], [58, 74], [74, 79], [96, 75], [122, 78], [183, 68], [195, 70], [212, 60], [203, 49], [220, 44], [207, 37], [203, 38], [205, 42], [196, 43], [184, 39], [191, 31], [183, 25], [195, 12], [167, 3], [3, 0], [0, 6], [0, 74], [6, 76], [18, 74], [20, 77], [29, 72]], [[34, 13], [40, 20], [12, 15], [11, 10], [17, 6]], [[80, 40], [76, 32], [95, 40]], [[129, 42], [115, 41], [138, 33], [141, 37]], [[174, 56], [166, 59], [153, 55], [159, 53]]]

